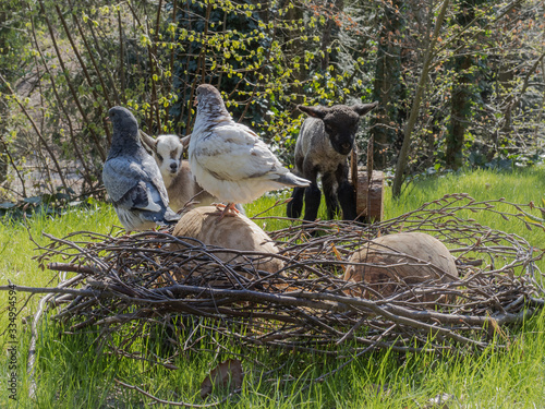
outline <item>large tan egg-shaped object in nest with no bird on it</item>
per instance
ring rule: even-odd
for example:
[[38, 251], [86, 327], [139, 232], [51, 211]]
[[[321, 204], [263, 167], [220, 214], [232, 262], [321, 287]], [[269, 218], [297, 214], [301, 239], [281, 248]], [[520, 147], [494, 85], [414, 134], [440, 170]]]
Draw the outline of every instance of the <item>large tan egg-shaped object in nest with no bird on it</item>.
[[458, 277], [455, 260], [445, 244], [421, 232], [374, 239], [355, 251], [349, 262], [362, 264], [350, 265], [344, 280], [363, 281], [364, 286], [352, 286], [346, 293], [368, 299], [404, 292], [403, 299], [439, 301], [437, 288]]

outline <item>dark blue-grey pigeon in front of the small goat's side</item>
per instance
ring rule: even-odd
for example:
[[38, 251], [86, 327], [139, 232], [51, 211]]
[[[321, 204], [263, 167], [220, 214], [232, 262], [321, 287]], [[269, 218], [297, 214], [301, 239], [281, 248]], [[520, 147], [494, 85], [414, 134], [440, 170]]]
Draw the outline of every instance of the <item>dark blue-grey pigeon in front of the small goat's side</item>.
[[108, 113], [113, 135], [102, 181], [119, 220], [128, 232], [174, 224], [181, 216], [168, 206], [161, 172], [142, 146], [136, 118], [123, 107]]

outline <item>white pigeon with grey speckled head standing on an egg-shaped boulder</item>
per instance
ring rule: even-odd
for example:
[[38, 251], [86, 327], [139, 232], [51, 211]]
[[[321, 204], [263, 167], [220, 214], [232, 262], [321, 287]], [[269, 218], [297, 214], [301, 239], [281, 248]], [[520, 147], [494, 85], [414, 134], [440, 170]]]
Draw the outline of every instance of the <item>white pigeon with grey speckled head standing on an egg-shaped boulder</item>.
[[235, 216], [237, 204], [253, 202], [267, 191], [311, 184], [284, 168], [255, 132], [233, 121], [213, 85], [197, 87], [195, 104], [187, 151], [191, 171], [203, 189], [227, 203], [220, 219]]

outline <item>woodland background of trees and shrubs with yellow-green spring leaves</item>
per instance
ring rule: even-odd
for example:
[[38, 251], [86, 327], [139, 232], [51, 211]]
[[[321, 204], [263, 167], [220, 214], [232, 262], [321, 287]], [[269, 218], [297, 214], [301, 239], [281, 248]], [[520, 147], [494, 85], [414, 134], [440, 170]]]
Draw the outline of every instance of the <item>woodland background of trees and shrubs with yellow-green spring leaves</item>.
[[189, 134], [201, 83], [288, 165], [298, 104], [355, 100], [380, 104], [359, 140], [375, 136], [378, 167], [410, 142], [402, 179], [533, 164], [544, 22], [538, 0], [2, 1], [1, 193], [100, 199], [108, 109], [131, 108], [152, 134]]

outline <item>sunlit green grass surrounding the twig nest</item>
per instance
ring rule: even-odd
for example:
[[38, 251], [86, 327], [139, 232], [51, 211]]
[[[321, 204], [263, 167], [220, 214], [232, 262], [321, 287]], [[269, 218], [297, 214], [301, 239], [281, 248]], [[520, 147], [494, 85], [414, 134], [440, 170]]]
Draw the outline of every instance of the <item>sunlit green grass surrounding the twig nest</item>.
[[[544, 172], [544, 168], [533, 168], [513, 173], [474, 171], [428, 178], [411, 183], [396, 201], [386, 189], [386, 217], [413, 210], [425, 202], [455, 192], [469, 193], [477, 201], [506, 197], [513, 203], [534, 201], [538, 204], [545, 193]], [[286, 192], [281, 196], [288, 195]], [[271, 206], [275, 200], [262, 199], [246, 206], [246, 212], [249, 215], [259, 213]], [[282, 216], [283, 212], [284, 206], [281, 206], [268, 214]], [[535, 246], [544, 246], [544, 233], [537, 229], [528, 230], [523, 224], [491, 214], [472, 217], [494, 229], [522, 236]], [[265, 224], [268, 230], [279, 227], [270, 220], [259, 224]], [[48, 240], [41, 232], [56, 237], [76, 230], [106, 233], [112, 225], [119, 225], [119, 221], [108, 205], [56, 218], [35, 216], [26, 221], [26, 227], [23, 222], [0, 224], [1, 284], [7, 284], [8, 279], [34, 287], [56, 284], [55, 274], [40, 270], [32, 258], [38, 252], [35, 251], [36, 244], [28, 239], [29, 234], [44, 245]], [[114, 378], [137, 385], [164, 399], [204, 404], [199, 398], [199, 386], [209, 370], [226, 358], [240, 357], [246, 372], [243, 390], [221, 407], [421, 408], [441, 394], [453, 396], [449, 408], [545, 407], [543, 314], [522, 327], [509, 328], [512, 342], [506, 351], [488, 348], [464, 357], [378, 351], [359, 358], [316, 384], [310, 384], [308, 380], [335, 370], [342, 360], [265, 348], [244, 350], [237, 344], [226, 345], [231, 351], [226, 353], [203, 334], [205, 337], [195, 350], [178, 351], [173, 363], [179, 370], [172, 371], [146, 361], [109, 356], [104, 353], [104, 346], [95, 341], [96, 334], [92, 330], [62, 334], [63, 328], [44, 320], [36, 348], [37, 397], [34, 401], [27, 398], [29, 324], [24, 324], [21, 318], [34, 314], [39, 298], [34, 297], [24, 306], [27, 296], [17, 293], [16, 297], [17, 306], [23, 308], [17, 318], [19, 400], [9, 399], [8, 348], [11, 345], [4, 333], [0, 337], [4, 352], [0, 357], [0, 408], [143, 408], [150, 404], [150, 399], [137, 392], [118, 387]], [[4, 291], [0, 292], [0, 303], [2, 306], [8, 303]], [[8, 312], [1, 311], [0, 327], [7, 328]], [[126, 336], [119, 333], [113, 339], [121, 341]], [[187, 336], [187, 333], [182, 333], [182, 339]], [[166, 353], [160, 335], [138, 339], [135, 349], [138, 348], [147, 348], [159, 357]], [[226, 394], [219, 393], [219, 396]]]

